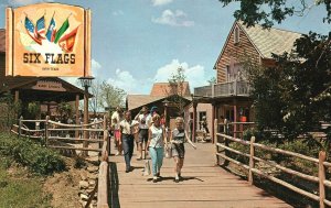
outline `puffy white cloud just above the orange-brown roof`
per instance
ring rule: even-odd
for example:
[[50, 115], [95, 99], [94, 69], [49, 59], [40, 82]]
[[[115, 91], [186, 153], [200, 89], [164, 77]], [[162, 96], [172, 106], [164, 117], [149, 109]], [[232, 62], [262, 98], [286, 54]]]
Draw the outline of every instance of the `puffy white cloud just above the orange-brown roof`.
[[168, 83], [171, 75], [177, 74], [177, 69], [182, 67], [184, 69], [185, 80], [189, 81], [191, 91], [194, 87], [207, 85], [207, 77], [203, 66], [195, 65], [189, 66], [188, 63], [180, 63], [178, 59], [173, 59], [170, 64], [160, 67], [153, 78], [157, 83]]

